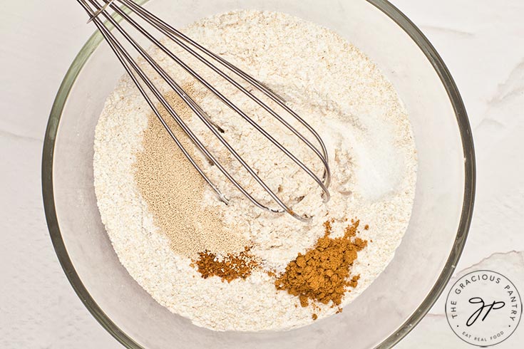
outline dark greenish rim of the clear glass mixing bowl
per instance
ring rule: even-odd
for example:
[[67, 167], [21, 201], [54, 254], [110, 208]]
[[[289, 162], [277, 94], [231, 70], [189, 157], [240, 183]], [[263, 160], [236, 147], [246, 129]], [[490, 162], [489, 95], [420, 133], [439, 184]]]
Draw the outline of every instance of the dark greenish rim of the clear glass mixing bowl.
[[[145, 4], [149, 0], [138, 0], [138, 4]], [[429, 291], [428, 295], [422, 303], [418, 306], [416, 311], [397, 328], [394, 333], [391, 333], [388, 338], [384, 339], [376, 348], [386, 349], [392, 348], [396, 343], [404, 338], [428, 313], [429, 309], [436, 302], [438, 297], [443, 292], [449, 279], [453, 275], [453, 271], [456, 268], [458, 259], [460, 258], [463, 248], [466, 244], [466, 238], [468, 231], [471, 226], [471, 219], [473, 216], [473, 205], [475, 200], [475, 188], [476, 188], [476, 160], [475, 150], [473, 146], [473, 136], [471, 134], [471, 127], [468, 121], [468, 115], [464, 106], [461, 94], [458, 91], [455, 81], [451, 77], [451, 73], [448, 71], [446, 64], [443, 62], [441, 56], [437, 53], [433, 45], [428, 41], [428, 38], [424, 36], [421, 30], [413, 24], [399, 9], [391, 4], [388, 0], [366, 0], [369, 4], [372, 4], [377, 9], [382, 11], [386, 16], [389, 16], [402, 30], [404, 30], [416, 45], [424, 53], [428, 61], [431, 63], [439, 78], [443, 83], [443, 87], [446, 89], [448, 98], [450, 99], [451, 105], [456, 115], [458, 123], [458, 129], [461, 134], [461, 142], [463, 147], [464, 155], [464, 195], [463, 195], [463, 206], [461, 209], [461, 219], [458, 224], [458, 230], [453, 243], [451, 253], [446, 260], [446, 264], [438, 276], [436, 283]], [[115, 16], [118, 21], [121, 20], [120, 16]], [[58, 226], [58, 219], [56, 215], [56, 207], [53, 194], [53, 155], [54, 147], [56, 142], [56, 134], [58, 131], [58, 125], [60, 123], [63, 108], [67, 102], [68, 95], [71, 92], [71, 88], [76, 82], [76, 78], [81, 73], [83, 66], [90, 58], [91, 54], [96, 50], [98, 44], [103, 41], [103, 37], [98, 31], [88, 39], [86, 44], [81, 48], [73, 63], [68, 68], [65, 77], [62, 80], [60, 88], [56, 94], [56, 98], [51, 108], [49, 116], [46, 135], [43, 142], [43, 154], [42, 154], [42, 195], [43, 195], [43, 207], [46, 214], [46, 222], [48, 225], [49, 234], [51, 241], [58, 256], [58, 261], [62, 266], [69, 283], [73, 287], [74, 291], [81, 299], [82, 303], [91, 315], [96, 318], [103, 328], [113, 337], [118, 340], [125, 348], [130, 349], [144, 349], [141, 345], [135, 342], [130, 336], [121, 330], [118, 325], [113, 323], [111, 319], [104, 313], [102, 308], [98, 306], [96, 301], [91, 297], [87, 288], [83, 285], [80, 276], [76, 273], [73, 263], [68, 255], [66, 246], [62, 239], [61, 231]]]

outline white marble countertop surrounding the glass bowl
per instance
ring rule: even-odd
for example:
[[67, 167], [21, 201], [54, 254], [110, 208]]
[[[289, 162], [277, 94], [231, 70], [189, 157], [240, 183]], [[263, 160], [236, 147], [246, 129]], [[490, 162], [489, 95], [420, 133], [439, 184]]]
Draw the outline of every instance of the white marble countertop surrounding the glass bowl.
[[[524, 293], [524, 2], [394, 0], [436, 46], [468, 108], [478, 189], [453, 279], [500, 271]], [[4, 1], [0, 11], [0, 347], [120, 348], [76, 297], [48, 237], [40, 160], [53, 98], [92, 33], [76, 1]], [[445, 293], [447, 290], [445, 291]], [[397, 348], [473, 348], [443, 297]], [[524, 325], [495, 348], [523, 348]]]

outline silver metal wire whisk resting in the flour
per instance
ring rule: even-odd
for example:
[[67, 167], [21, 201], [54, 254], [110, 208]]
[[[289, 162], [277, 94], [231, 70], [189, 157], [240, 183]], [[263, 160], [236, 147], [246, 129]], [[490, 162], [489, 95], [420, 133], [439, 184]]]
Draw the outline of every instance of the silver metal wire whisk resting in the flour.
[[[192, 141], [192, 143], [197, 147], [200, 152], [202, 152], [203, 155], [207, 158], [207, 160], [210, 160], [210, 162], [213, 165], [216, 165], [217, 168], [222, 172], [222, 174], [227, 177], [227, 179], [232, 182], [235, 187], [242, 192], [242, 194], [245, 195], [250, 201], [255, 204], [257, 207], [260, 207], [261, 209], [265, 209], [269, 212], [274, 213], [283, 213], [287, 212], [288, 214], [291, 214], [292, 217], [299, 219], [301, 221], [307, 221], [311, 217], [308, 217], [305, 214], [297, 214], [293, 211], [292, 207], [289, 207], [287, 204], [282, 202], [281, 199], [275, 194], [272, 189], [269, 189], [266, 183], [257, 175], [257, 171], [252, 169], [247, 163], [238, 155], [238, 153], [235, 151], [235, 148], [232, 147], [225, 139], [222, 137], [220, 132], [220, 125], [216, 125], [215, 123], [210, 120], [210, 117], [205, 113], [202, 108], [200, 108], [200, 105], [195, 103], [195, 100], [193, 100], [185, 91], [183, 88], [180, 87], [180, 85], [173, 80], [173, 78], [162, 68], [160, 65], [155, 62], [153, 58], [145, 51], [145, 48], [143, 46], [140, 46], [138, 42], [133, 38], [129, 31], [125, 30], [122, 25], [120, 25], [119, 21], [115, 20], [113, 16], [108, 12], [109, 9], [113, 10], [115, 14], [118, 14], [118, 16], [121, 16], [122, 19], [124, 19], [130, 26], [136, 29], [140, 35], [144, 36], [148, 39], [148, 41], [160, 48], [161, 51], [163, 51], [167, 56], [169, 56], [171, 59], [173, 59], [176, 63], [178, 63], [178, 66], [183, 68], [187, 73], [189, 73], [192, 78], [195, 78], [199, 83], [205, 86], [208, 90], [210, 90], [211, 93], [213, 93], [217, 98], [219, 98], [222, 103], [225, 103], [229, 108], [235, 111], [238, 115], [240, 115], [244, 120], [247, 121], [252, 127], [255, 127], [255, 129], [262, 133], [267, 140], [272, 142], [280, 151], [284, 152], [289, 159], [291, 159], [297, 166], [299, 166], [304, 172], [311, 177], [314, 182], [317, 182], [317, 184], [322, 188], [323, 191], [323, 199], [324, 202], [327, 202], [329, 200], [329, 182], [330, 182], [330, 171], [329, 171], [329, 162], [328, 162], [328, 156], [327, 156], [327, 150], [324, 145], [324, 142], [322, 141], [321, 137], [318, 135], [318, 133], [310, 126], [308, 125], [302, 118], [297, 115], [297, 113], [294, 113], [293, 110], [291, 110], [286, 104], [285, 101], [277, 95], [277, 93], [274, 93], [271, 89], [267, 88], [266, 85], [263, 83], [260, 83], [260, 81], [256, 80], [252, 76], [248, 75], [244, 71], [240, 70], [236, 66], [233, 66], [231, 63], [228, 63], [225, 61], [225, 59], [221, 58], [220, 56], [217, 56], [215, 53], [212, 53], [207, 48], [204, 48], [199, 43], [196, 43], [195, 41], [192, 41], [191, 38], [188, 38], [180, 31], [176, 30], [169, 24], [165, 23], [165, 21], [162, 21], [154, 14], [151, 14], [150, 11], [147, 11], [142, 6], [139, 6], [138, 4], [135, 4], [133, 0], [77, 0], [81, 6], [87, 11], [89, 15], [89, 21], [93, 21], [93, 23], [97, 26], [98, 30], [102, 33], [103, 38], [106, 39], [108, 44], [111, 46], [111, 49], [114, 51], [115, 55], [118, 57], [120, 63], [122, 63], [123, 67], [125, 68], [125, 71], [129, 74], [130, 78], [133, 80], [135, 85], [137, 86], [138, 90], [140, 90], [140, 93], [143, 95], [145, 100], [147, 101], [148, 105], [150, 106], [151, 110], [155, 113], [155, 115], [158, 117], [158, 120], [160, 120], [160, 123], [165, 127], [165, 130], [169, 132], [169, 135], [173, 138], [173, 140], [176, 142], [178, 147], [180, 147], [180, 150], [184, 153], [185, 157], [187, 157], [187, 160], [191, 162], [191, 164], [195, 167], [195, 169], [200, 173], [200, 175], [205, 179], [205, 181], [212, 187], [212, 189], [217, 193], [218, 197], [225, 202], [228, 203], [227, 197], [222, 194], [220, 189], [217, 187], [216, 184], [214, 184], [209, 177], [205, 174], [205, 172], [202, 170], [202, 168], [197, 165], [197, 162], [192, 158], [192, 156], [187, 152], [185, 147], [182, 145], [180, 140], [175, 136], [173, 133], [173, 130], [170, 129], [168, 126], [168, 123], [165, 122], [162, 115], [160, 115], [160, 111], [158, 110], [158, 103], [165, 108], [165, 110], [168, 111], [169, 115], [178, 123], [180, 126], [180, 129], [183, 130], [185, 135], [189, 137], [189, 139]], [[119, 5], [121, 7], [119, 7]], [[130, 14], [134, 14], [135, 16], [131, 17]], [[106, 19], [106, 21], [103, 21], [101, 19], [103, 17]], [[304, 165], [302, 161], [297, 159], [295, 155], [292, 154], [286, 147], [284, 147], [278, 140], [274, 139], [274, 137], [269, 134], [266, 130], [264, 130], [263, 127], [261, 127], [258, 123], [255, 122], [255, 120], [252, 120], [249, 115], [244, 113], [240, 108], [237, 107], [234, 103], [231, 102], [228, 98], [225, 97], [220, 91], [218, 91], [215, 87], [210, 85], [210, 83], [202, 78], [196, 71], [194, 71], [190, 66], [187, 65], [180, 57], [175, 55], [172, 51], [170, 51], [163, 43], [161, 43], [155, 36], [153, 36], [150, 31], [146, 30], [142, 24], [139, 24], [138, 21], [135, 19], [140, 19], [140, 21], [148, 26], [154, 28], [156, 31], [159, 31], [165, 38], [169, 38], [171, 41], [176, 43], [180, 48], [183, 48], [183, 50], [187, 51], [187, 53], [190, 53], [191, 56], [195, 57], [198, 61], [203, 63], [205, 66], [210, 68], [214, 73], [220, 75], [220, 77], [227, 80], [228, 83], [232, 85], [233, 88], [237, 88], [240, 90], [243, 94], [245, 94], [248, 98], [250, 98], [252, 101], [254, 101], [262, 110], [265, 110], [267, 115], [270, 115], [273, 118], [276, 118], [279, 123], [281, 123], [284, 127], [287, 127], [289, 131], [292, 132], [293, 135], [295, 135], [306, 147], [309, 147], [310, 150], [312, 150], [317, 157], [319, 157], [319, 160], [322, 162], [322, 165], [324, 167], [324, 172], [322, 174], [322, 179], [319, 178], [307, 165]], [[114, 27], [114, 28], [112, 28]], [[115, 37], [114, 31], [118, 31], [120, 33], [120, 36], [122, 36], [125, 41], [122, 41], [120, 38], [120, 41]], [[175, 91], [175, 93], [180, 96], [180, 98], [184, 101], [184, 103], [187, 104], [187, 106], [192, 110], [192, 113], [195, 113], [195, 115], [202, 120], [202, 123], [204, 123], [207, 128], [212, 132], [215, 137], [217, 137], [221, 144], [224, 145], [229, 152], [231, 152], [232, 156], [240, 162], [242, 167], [249, 172], [249, 174], [255, 179], [255, 181], [260, 184], [260, 187], [264, 189], [267, 194], [271, 197], [271, 199], [278, 204], [279, 208], [270, 208], [265, 206], [264, 204], [261, 204], [257, 199], [252, 197], [252, 194], [250, 192], [247, 192], [247, 190], [242, 187], [242, 185], [237, 182], [235, 177], [233, 177], [230, 172], [228, 172], [225, 167], [220, 164], [220, 162], [217, 161], [215, 156], [213, 156], [212, 152], [207, 149], [207, 147], [201, 142], [201, 140], [198, 139], [198, 137], [195, 135], [194, 132], [190, 129], [190, 127], [187, 127], [187, 125], [184, 123], [182, 118], [176, 113], [176, 111], [173, 109], [173, 107], [168, 103], [168, 101], [164, 98], [163, 94], [160, 93], [160, 90], [157, 86], [152, 82], [152, 79], [148, 77], [148, 75], [143, 71], [142, 68], [138, 65], [137, 61], [133, 58], [133, 56], [130, 55], [129, 51], [124, 48], [123, 42], [126, 43], [126, 45], [132, 46], [140, 56], [154, 69], [158, 75], [167, 83], [170, 88]], [[245, 88], [242, 84], [238, 83], [237, 80], [232, 78], [232, 76], [236, 76], [237, 78], [240, 78], [245, 83], [252, 86], [252, 88], [255, 88], [256, 90], [260, 91], [266, 98], [269, 98], [269, 100], [272, 100], [272, 102], [277, 103], [279, 105], [279, 108], [282, 108], [285, 113], [288, 113], [292, 116], [295, 120], [297, 120], [304, 128], [311, 133], [311, 135], [314, 137], [316, 142], [318, 142], [319, 146], [315, 146], [312, 144], [312, 142], [309, 142], [304, 135], [302, 135], [301, 132], [299, 132], [295, 127], [290, 125], [287, 120], [282, 118], [281, 115], [279, 115], [277, 112], [275, 112], [272, 108], [269, 108], [269, 106], [264, 103], [260, 98], [258, 98], [255, 94], [250, 92], [252, 88]], [[149, 93], [147, 92], [149, 91]], [[153, 98], [151, 95], [154, 96], [156, 100], [158, 100], [157, 103], [153, 102]]]

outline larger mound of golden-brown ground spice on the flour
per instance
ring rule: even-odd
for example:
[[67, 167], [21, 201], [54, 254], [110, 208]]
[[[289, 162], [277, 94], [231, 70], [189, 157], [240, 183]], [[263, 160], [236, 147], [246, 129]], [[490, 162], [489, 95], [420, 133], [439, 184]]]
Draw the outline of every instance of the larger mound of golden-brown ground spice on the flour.
[[318, 301], [339, 306], [348, 287], [356, 287], [359, 276], [349, 279], [349, 269], [357, 252], [367, 246], [367, 241], [355, 237], [359, 221], [351, 221], [344, 229], [344, 236], [330, 238], [332, 222], [325, 222], [326, 234], [317, 241], [314, 249], [299, 254], [289, 262], [286, 271], [277, 278], [274, 285], [298, 296], [305, 307], [309, 301]]

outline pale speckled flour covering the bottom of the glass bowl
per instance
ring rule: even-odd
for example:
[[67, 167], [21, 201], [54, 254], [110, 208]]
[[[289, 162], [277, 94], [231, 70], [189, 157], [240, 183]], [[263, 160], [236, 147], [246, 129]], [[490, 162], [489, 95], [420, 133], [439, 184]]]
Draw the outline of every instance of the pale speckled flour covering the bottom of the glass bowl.
[[[197, 21], [184, 33], [282, 95], [287, 105], [319, 132], [329, 155], [332, 197], [324, 204], [319, 186], [283, 152], [269, 145], [259, 132], [155, 49], [153, 56], [180, 85], [191, 90], [190, 95], [225, 130], [224, 137], [239, 154], [256, 167], [284, 202], [291, 203], [294, 212], [312, 216], [312, 222], [303, 224], [287, 214], [258, 209], [216, 167], [203, 162], [210, 178], [227, 194], [230, 205], [220, 202], [209, 187], [181, 194], [182, 186], [175, 183], [175, 192], [182, 197], [200, 198], [200, 203], [183, 202], [200, 206], [191, 206], [193, 213], [200, 210], [219, 217], [220, 236], [228, 236], [230, 241], [249, 241], [250, 253], [257, 257], [259, 267], [247, 278], [231, 282], [217, 276], [202, 278], [192, 264], [195, 255], [184, 255], [180, 251], [185, 249], [173, 248], [176, 231], [163, 231], [159, 227], [162, 224], [156, 224], [160, 220], [154, 217], [151, 205], [140, 192], [143, 187], [139, 188], [135, 180], [135, 171], [141, 168], [136, 163], [140, 164], [145, 158], [140, 154], [147, 152], [143, 139], [152, 119], [145, 100], [124, 77], [106, 102], [95, 139], [98, 207], [114, 249], [130, 275], [158, 303], [196, 325], [214, 330], [287, 330], [312, 323], [312, 309], [301, 306], [297, 296], [277, 291], [275, 278], [267, 271], [282, 274], [298, 254], [315, 246], [325, 234], [327, 220], [334, 236], [341, 236], [348, 219], [359, 219], [369, 225], [359, 234], [369, 244], [359, 251], [351, 266], [351, 276], [360, 276], [358, 285], [345, 293], [340, 306], [353, 301], [374, 281], [393, 258], [413, 205], [416, 150], [409, 118], [379, 68], [327, 28], [286, 14], [236, 11]], [[180, 49], [173, 51], [178, 53]], [[190, 58], [187, 61], [195, 63]], [[274, 118], [260, 113], [260, 108], [232, 85], [210, 72], [202, 74], [313, 172], [322, 174], [318, 157], [297, 142], [289, 130], [277, 127]], [[274, 103], [269, 106], [277, 108]], [[197, 118], [186, 121], [211, 150], [216, 150], [220, 162], [230, 165], [248, 192], [255, 193], [262, 204], [275, 207]], [[314, 142], [311, 134], [304, 135]], [[175, 171], [183, 167], [173, 163], [169, 168]], [[140, 185], [147, 182], [147, 178], [140, 180]], [[201, 179], [188, 174], [187, 181], [192, 180]], [[173, 214], [173, 219], [180, 219], [184, 231], [190, 232], [187, 234], [195, 234], [199, 248], [217, 249], [220, 255], [220, 246], [206, 242], [211, 233], [206, 231], [205, 219], [183, 221], [187, 215], [183, 209], [179, 211], [180, 217]], [[217, 222], [214, 224], [217, 226]], [[176, 224], [171, 225], [176, 230]], [[331, 316], [337, 309], [319, 303], [314, 318]]]

